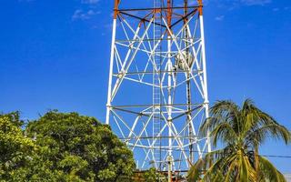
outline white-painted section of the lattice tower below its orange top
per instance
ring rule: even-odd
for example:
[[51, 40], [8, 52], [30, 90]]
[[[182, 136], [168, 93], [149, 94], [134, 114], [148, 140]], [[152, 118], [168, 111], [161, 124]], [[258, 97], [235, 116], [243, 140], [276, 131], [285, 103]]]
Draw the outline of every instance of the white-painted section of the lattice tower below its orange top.
[[[189, 167], [193, 162], [189, 161], [191, 157], [187, 151], [190, 145], [196, 147], [198, 157], [203, 157], [205, 152], [211, 151], [209, 135], [198, 136], [199, 124], [205, 117], [209, 117], [203, 16], [196, 16], [197, 13], [190, 15], [183, 25], [172, 29], [164, 18], [157, 22], [155, 14], [159, 13], [149, 13], [148, 22], [141, 23], [138, 20], [137, 24], [124, 16], [114, 20], [105, 122], [115, 125], [125, 144], [132, 148], [135, 154], [137, 151], [144, 154], [142, 158], [139, 156], [142, 160], [139, 161], [139, 166], [142, 169], [162, 164], [163, 169], [168, 166], [169, 170], [180, 170], [181, 167]], [[120, 28], [116, 26], [116, 21], [121, 22]], [[163, 24], [163, 27], [156, 23]], [[155, 27], [163, 30], [157, 36]], [[121, 39], [116, 37], [116, 29], [118, 36], [124, 33]], [[185, 32], [188, 32], [187, 37]], [[165, 35], [167, 37], [164, 37]], [[161, 47], [162, 45], [166, 46]], [[185, 54], [186, 50], [189, 50], [190, 58]], [[179, 60], [175, 62], [176, 57]], [[152, 88], [152, 96], [135, 94], [141, 94], [148, 100], [153, 99], [153, 103], [139, 102], [129, 106], [118, 103], [119, 106], [115, 106], [118, 101], [116, 99], [122, 96], [122, 86], [131, 88], [131, 85], [125, 85], [124, 82]], [[194, 100], [191, 103], [192, 115], [185, 122], [183, 119], [189, 110], [185, 103], [177, 103], [177, 97], [183, 96], [176, 92], [179, 92], [177, 90], [180, 87], [186, 86], [187, 82], [193, 87], [190, 92], [194, 92]], [[159, 93], [154, 95], [157, 90]], [[110, 122], [110, 113], [114, 122]], [[126, 114], [132, 117], [127, 117]], [[180, 119], [180, 116], [183, 116], [183, 119]], [[156, 131], [152, 125], [155, 120], [160, 123], [160, 126], [156, 126]], [[188, 134], [189, 126], [193, 136]], [[163, 142], [160, 143], [161, 141]], [[162, 151], [163, 156], [156, 157], [155, 151]], [[173, 164], [169, 163], [169, 159], [173, 159]]]

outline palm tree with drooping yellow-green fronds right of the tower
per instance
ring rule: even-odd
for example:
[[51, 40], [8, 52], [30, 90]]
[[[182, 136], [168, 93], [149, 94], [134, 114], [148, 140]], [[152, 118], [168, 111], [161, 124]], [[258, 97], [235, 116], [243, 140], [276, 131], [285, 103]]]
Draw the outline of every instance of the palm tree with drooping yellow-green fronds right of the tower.
[[283, 139], [291, 134], [285, 126], [257, 108], [247, 99], [243, 106], [232, 101], [219, 101], [210, 109], [211, 117], [201, 126], [200, 133], [209, 132], [213, 146], [222, 149], [208, 153], [188, 172], [189, 181], [285, 182], [285, 177], [258, 148], [268, 138]]

